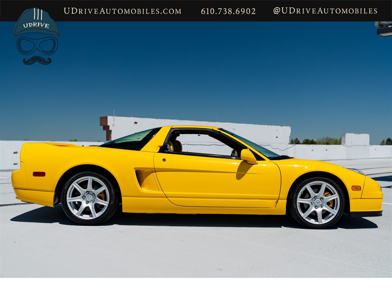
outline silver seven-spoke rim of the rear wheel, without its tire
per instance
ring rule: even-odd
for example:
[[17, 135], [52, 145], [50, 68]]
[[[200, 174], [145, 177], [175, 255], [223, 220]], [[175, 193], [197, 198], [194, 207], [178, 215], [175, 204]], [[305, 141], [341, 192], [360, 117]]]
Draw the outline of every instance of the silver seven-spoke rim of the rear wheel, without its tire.
[[[104, 196], [102, 200], [98, 195]], [[109, 205], [109, 189], [98, 178], [85, 176], [76, 179], [68, 188], [69, 210], [82, 220], [93, 220], [106, 211]]]

